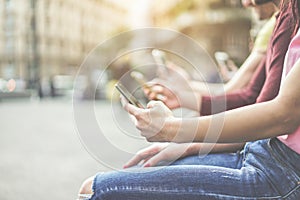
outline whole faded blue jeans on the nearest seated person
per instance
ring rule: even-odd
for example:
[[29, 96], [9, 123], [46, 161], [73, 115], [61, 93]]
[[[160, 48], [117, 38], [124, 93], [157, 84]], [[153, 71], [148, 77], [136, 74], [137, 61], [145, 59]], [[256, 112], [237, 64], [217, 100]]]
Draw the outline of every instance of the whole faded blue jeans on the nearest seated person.
[[236, 154], [197, 157], [99, 173], [91, 199], [300, 199], [300, 155], [277, 139], [247, 143]]

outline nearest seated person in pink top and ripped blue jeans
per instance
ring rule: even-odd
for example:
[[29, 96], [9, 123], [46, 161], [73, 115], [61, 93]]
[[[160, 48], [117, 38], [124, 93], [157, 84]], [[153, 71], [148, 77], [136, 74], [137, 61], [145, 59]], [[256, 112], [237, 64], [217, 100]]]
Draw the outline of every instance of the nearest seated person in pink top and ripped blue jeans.
[[[286, 30], [291, 25], [287, 21], [293, 19], [297, 23], [288, 33], [292, 36], [299, 27], [299, 2], [282, 2], [271, 40], [272, 52], [285, 44], [276, 43], [278, 39], [282, 42], [285, 38], [282, 37], [284, 31], [276, 35], [276, 30]], [[299, 44], [299, 35], [298, 32], [287, 53], [284, 71], [290, 71], [273, 100], [191, 119], [175, 118], [161, 101], [151, 101], [147, 109], [124, 104], [124, 108], [135, 116], [136, 127], [148, 141], [176, 142], [178, 145], [187, 142], [248, 142], [242, 152], [231, 159], [237, 161], [235, 164], [231, 163], [230, 167], [172, 165], [99, 173], [83, 184], [80, 194], [89, 194], [90, 199], [299, 199], [300, 91], [297, 84], [300, 84], [300, 60], [297, 55], [299, 45], [295, 45]], [[273, 46], [275, 44], [276, 47]], [[281, 50], [284, 51], [284, 48]], [[277, 73], [268, 73], [270, 75], [278, 76]], [[216, 127], [211, 128], [214, 119], [221, 119], [222, 123], [217, 120], [218, 123], [214, 123]], [[212, 131], [218, 126], [220, 129], [216, 136]], [[288, 136], [279, 137], [287, 133]], [[227, 161], [228, 155], [232, 154], [224, 154], [221, 162]]]

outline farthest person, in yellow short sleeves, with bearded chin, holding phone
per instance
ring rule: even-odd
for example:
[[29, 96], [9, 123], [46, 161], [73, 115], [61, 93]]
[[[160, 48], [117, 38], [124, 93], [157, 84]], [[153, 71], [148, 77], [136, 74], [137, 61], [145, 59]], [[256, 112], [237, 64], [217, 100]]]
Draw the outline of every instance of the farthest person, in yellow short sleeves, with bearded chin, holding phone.
[[[214, 57], [219, 66], [219, 71], [216, 73], [221, 74], [222, 81], [226, 83], [225, 85], [223, 85], [223, 83], [207, 83], [193, 80], [192, 76], [190, 76], [187, 72], [184, 72], [185, 79], [188, 80], [190, 87], [194, 91], [200, 92], [201, 95], [232, 92], [246, 87], [257, 67], [260, 65], [260, 62], [266, 55], [268, 43], [275, 27], [278, 7], [276, 7], [272, 2], [262, 5], [254, 5], [251, 3], [251, 1], [250, 3], [248, 1], [243, 1], [243, 5], [245, 7], [252, 8], [256, 19], [263, 22], [261, 29], [258, 31], [256, 37], [254, 37], [254, 42], [250, 42], [249, 44], [251, 53], [241, 65], [240, 69], [235, 65], [233, 59], [228, 55], [228, 53], [223, 51], [217, 51], [214, 53]], [[177, 67], [175, 64], [170, 64], [169, 68], [171, 70], [175, 70], [178, 72], [178, 74], [183, 74], [182, 72], [184, 69]], [[175, 77], [171, 77], [171, 75], [168, 74], [167, 79], [175, 80], [175, 82], [178, 83], [180, 77], [177, 77], [178, 75], [175, 73], [171, 74], [173, 74]], [[164, 79], [163, 77], [161, 78]]]

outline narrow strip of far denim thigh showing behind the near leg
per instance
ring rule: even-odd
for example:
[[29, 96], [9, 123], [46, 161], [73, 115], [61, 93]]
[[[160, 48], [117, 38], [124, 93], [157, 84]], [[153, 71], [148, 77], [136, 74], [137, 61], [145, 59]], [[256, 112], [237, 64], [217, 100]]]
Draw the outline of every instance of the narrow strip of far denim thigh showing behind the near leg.
[[171, 165], [211, 165], [219, 167], [227, 167], [232, 169], [239, 169], [242, 166], [242, 153], [214, 153], [202, 155], [188, 156], [179, 159]]

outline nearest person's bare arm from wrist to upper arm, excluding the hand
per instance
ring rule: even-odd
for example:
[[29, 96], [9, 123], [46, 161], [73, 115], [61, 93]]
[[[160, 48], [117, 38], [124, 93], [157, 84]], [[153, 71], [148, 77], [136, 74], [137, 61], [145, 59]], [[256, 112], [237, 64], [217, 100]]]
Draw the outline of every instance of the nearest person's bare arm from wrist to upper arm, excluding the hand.
[[170, 135], [176, 142], [238, 143], [292, 133], [300, 125], [299, 75], [300, 60], [274, 100], [217, 115], [175, 119], [176, 134]]

